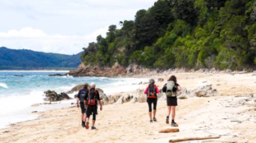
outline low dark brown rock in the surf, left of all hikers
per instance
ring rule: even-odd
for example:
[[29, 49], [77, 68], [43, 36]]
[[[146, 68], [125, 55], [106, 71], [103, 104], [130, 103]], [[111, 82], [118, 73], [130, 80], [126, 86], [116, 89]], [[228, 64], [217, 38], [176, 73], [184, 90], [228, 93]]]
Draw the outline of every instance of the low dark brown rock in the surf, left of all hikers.
[[55, 91], [46, 91], [44, 92], [46, 98], [44, 98], [45, 101], [55, 102], [55, 101], [61, 101], [64, 99], [70, 99], [70, 97], [66, 93], [60, 93], [57, 94]]

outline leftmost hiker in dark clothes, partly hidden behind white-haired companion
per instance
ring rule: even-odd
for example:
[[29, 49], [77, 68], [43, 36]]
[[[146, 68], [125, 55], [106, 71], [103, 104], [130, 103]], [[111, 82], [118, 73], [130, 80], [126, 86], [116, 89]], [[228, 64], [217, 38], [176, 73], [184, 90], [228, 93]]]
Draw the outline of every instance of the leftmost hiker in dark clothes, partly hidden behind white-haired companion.
[[87, 108], [87, 105], [86, 105], [86, 102], [84, 102], [84, 99], [88, 96], [88, 93], [89, 93], [88, 86], [89, 86], [88, 83], [84, 84], [83, 89], [79, 90], [77, 98], [76, 98], [77, 107], [79, 108], [79, 104], [80, 104], [80, 107], [81, 107], [82, 127], [86, 127], [86, 108]]

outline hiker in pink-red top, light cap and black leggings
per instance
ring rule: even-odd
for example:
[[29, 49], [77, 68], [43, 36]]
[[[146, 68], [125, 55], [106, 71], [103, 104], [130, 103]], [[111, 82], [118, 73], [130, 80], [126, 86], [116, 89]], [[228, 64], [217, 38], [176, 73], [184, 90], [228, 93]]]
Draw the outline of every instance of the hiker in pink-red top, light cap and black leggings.
[[[157, 94], [159, 93], [159, 90], [155, 84], [154, 79], [150, 79], [150, 84], [147, 86], [146, 90], [144, 91], [144, 94], [147, 95], [147, 104], [148, 104], [148, 115], [150, 116], [150, 123], [153, 123], [153, 121], [157, 122], [156, 119], [156, 112], [157, 112]], [[152, 103], [153, 103], [153, 120], [152, 120]]]

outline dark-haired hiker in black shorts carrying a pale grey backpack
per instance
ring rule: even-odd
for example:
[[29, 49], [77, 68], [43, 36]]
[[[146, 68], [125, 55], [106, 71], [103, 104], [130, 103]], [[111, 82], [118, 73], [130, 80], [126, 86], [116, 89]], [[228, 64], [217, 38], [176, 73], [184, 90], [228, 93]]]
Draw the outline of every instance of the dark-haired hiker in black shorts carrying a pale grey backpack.
[[178, 106], [177, 103], [177, 92], [181, 91], [180, 85], [177, 83], [176, 76], [172, 75], [168, 79], [167, 83], [163, 87], [163, 92], [166, 94], [167, 101], [167, 116], [166, 124], [169, 124], [169, 116], [172, 111], [172, 123], [171, 126], [178, 127], [178, 124], [174, 121], [175, 119], [175, 108]]

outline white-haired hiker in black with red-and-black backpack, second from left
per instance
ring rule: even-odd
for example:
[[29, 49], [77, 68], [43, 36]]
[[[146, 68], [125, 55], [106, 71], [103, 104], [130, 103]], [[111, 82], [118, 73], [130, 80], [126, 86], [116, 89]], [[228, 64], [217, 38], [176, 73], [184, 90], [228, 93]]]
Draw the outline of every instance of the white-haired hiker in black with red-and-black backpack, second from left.
[[98, 102], [100, 105], [100, 110], [102, 110], [102, 103], [100, 101], [99, 97], [99, 92], [95, 89], [96, 84], [94, 82], [91, 83], [91, 89], [89, 90], [89, 94], [87, 95], [86, 99], [84, 102], [88, 102], [88, 108], [86, 111], [86, 129], [89, 129], [89, 119], [90, 116], [93, 115], [93, 125], [92, 125], [92, 130], [96, 129], [95, 127], [95, 121], [96, 121], [96, 115], [98, 114], [97, 112], [97, 106]]

